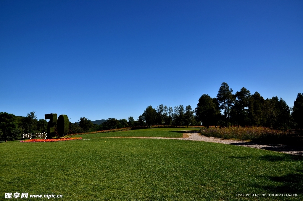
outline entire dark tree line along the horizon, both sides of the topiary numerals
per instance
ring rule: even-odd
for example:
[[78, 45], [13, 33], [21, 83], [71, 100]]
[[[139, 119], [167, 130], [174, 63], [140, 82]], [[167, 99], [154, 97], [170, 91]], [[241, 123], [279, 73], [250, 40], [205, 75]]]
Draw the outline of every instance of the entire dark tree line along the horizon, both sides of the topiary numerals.
[[[261, 126], [279, 130], [303, 128], [303, 95], [298, 93], [294, 106], [290, 108], [282, 98], [277, 96], [264, 98], [258, 92], [251, 94], [242, 87], [236, 93], [223, 82], [216, 97], [203, 94], [197, 107], [190, 105], [175, 107], [163, 104], [153, 108], [146, 107], [138, 119], [128, 120], [108, 118], [102, 124], [93, 124], [83, 117], [79, 122], [69, 123], [70, 131], [83, 133], [91, 131], [111, 130], [126, 127], [152, 126]], [[20, 140], [23, 133], [47, 132], [47, 121], [37, 119], [35, 111], [26, 117], [0, 112], [0, 140]]]

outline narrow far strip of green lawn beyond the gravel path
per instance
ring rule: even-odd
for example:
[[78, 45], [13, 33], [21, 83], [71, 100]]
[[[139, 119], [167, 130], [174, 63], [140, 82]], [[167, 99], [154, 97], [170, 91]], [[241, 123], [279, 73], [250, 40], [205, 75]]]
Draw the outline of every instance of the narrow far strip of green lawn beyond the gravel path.
[[100, 137], [169, 137], [182, 138], [182, 131], [199, 131], [198, 128], [149, 128], [139, 130], [128, 130], [110, 133], [94, 133], [87, 135], [78, 135], [82, 138], [100, 138]]

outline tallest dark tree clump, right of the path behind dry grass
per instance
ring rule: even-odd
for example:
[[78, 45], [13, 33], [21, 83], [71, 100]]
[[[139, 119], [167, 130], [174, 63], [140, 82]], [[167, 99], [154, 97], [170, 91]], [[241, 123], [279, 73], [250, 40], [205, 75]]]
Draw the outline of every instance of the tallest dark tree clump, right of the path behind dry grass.
[[[277, 96], [264, 99], [258, 92], [251, 94], [242, 87], [233, 94], [227, 83], [222, 83], [218, 95], [203, 94], [195, 108], [196, 119], [207, 128], [217, 126], [263, 126], [274, 129], [302, 128], [303, 96], [298, 94], [294, 107], [288, 107]], [[223, 114], [221, 114], [221, 112]]]

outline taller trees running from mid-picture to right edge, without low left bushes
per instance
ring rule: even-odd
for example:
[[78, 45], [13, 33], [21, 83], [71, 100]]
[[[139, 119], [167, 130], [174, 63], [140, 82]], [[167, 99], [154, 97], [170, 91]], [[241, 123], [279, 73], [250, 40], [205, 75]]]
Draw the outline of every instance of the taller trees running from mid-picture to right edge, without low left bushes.
[[148, 106], [134, 124], [148, 128], [155, 125], [203, 125], [206, 128], [218, 125], [262, 126], [278, 130], [303, 128], [303, 95], [298, 93], [294, 106], [290, 108], [282, 98], [264, 99], [257, 91], [251, 94], [245, 87], [233, 93], [223, 82], [216, 97], [203, 94], [194, 110], [190, 105], [185, 109], [183, 105], [174, 108], [162, 104], [156, 108]]

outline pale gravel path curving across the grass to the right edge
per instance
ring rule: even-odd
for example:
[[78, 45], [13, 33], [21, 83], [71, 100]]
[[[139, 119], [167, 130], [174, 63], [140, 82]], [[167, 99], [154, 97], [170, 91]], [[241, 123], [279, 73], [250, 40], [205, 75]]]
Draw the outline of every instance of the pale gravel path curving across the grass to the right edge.
[[183, 138], [163, 138], [163, 137], [110, 137], [110, 138], [141, 138], [141, 139], [172, 139], [172, 140], [192, 140], [192, 141], [205, 141], [205, 142], [215, 142], [228, 145], [237, 145], [243, 147], [251, 147], [257, 149], [271, 150], [275, 152], [282, 152], [292, 155], [303, 155], [303, 147], [288, 146], [288, 145], [267, 145], [267, 144], [257, 144], [247, 141], [239, 140], [224, 140], [220, 138], [207, 137], [200, 135], [200, 133], [186, 133]]

